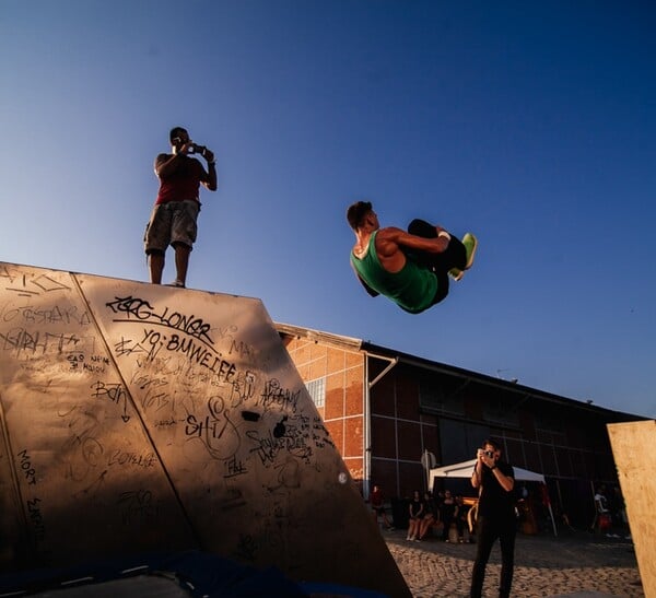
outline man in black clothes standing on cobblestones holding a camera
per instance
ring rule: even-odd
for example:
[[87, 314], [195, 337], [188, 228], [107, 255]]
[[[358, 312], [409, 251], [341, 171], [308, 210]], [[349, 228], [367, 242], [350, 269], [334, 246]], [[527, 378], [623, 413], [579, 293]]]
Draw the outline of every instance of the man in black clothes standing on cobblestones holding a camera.
[[515, 473], [501, 460], [501, 447], [495, 441], [487, 439], [478, 449], [471, 485], [479, 489], [477, 512], [477, 551], [471, 572], [471, 598], [479, 598], [485, 578], [485, 566], [492, 546], [499, 538], [501, 544], [500, 598], [511, 595], [515, 562]]

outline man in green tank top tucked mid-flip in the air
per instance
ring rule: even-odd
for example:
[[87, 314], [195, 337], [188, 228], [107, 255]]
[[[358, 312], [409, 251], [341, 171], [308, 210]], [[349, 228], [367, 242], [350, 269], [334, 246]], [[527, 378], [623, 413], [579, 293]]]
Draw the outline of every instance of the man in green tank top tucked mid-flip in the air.
[[462, 242], [441, 226], [413, 220], [408, 232], [380, 228], [371, 201], [349, 207], [347, 220], [355, 233], [351, 266], [370, 295], [385, 295], [399, 307], [419, 314], [448, 294], [448, 277], [460, 280], [471, 268], [478, 242]]

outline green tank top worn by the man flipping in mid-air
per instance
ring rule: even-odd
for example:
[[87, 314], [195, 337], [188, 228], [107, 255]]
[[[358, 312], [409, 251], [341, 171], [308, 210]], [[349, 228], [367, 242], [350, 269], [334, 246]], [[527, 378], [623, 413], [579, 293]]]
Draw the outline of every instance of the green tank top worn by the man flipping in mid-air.
[[375, 231], [362, 259], [351, 251], [351, 263], [360, 278], [374, 291], [389, 297], [399, 307], [412, 314], [419, 314], [433, 305], [437, 292], [437, 277], [427, 268], [422, 268], [406, 255], [406, 266], [398, 272], [388, 272], [383, 268], [376, 254]]

